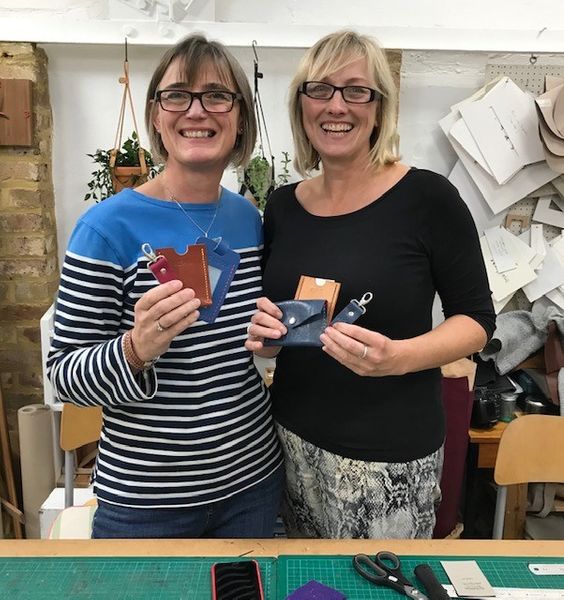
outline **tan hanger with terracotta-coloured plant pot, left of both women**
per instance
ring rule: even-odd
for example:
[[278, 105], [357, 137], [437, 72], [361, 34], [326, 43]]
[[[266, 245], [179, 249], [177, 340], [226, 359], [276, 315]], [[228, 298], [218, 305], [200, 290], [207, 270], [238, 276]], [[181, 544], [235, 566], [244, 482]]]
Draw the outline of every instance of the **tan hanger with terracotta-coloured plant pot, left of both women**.
[[[112, 173], [112, 182], [114, 185], [114, 192], [121, 191], [124, 187], [135, 187], [147, 180], [148, 168], [145, 160], [145, 150], [141, 147], [141, 140], [139, 138], [139, 128], [137, 127], [137, 119], [135, 117], [135, 108], [133, 106], [133, 99], [131, 98], [131, 89], [129, 87], [129, 61], [127, 60], [127, 38], [125, 38], [125, 60], [123, 62], [123, 76], [119, 78], [119, 82], [123, 83], [123, 94], [121, 97], [121, 108], [119, 112], [118, 125], [116, 130], [116, 136], [114, 139], [114, 147], [110, 150], [110, 171]], [[136, 166], [128, 165], [122, 166], [117, 164], [118, 153], [121, 149], [121, 143], [123, 139], [123, 124], [125, 121], [125, 112], [127, 104], [131, 110], [131, 116], [133, 117], [133, 131], [137, 136], [137, 143], [139, 146], [138, 158], [139, 164]]]

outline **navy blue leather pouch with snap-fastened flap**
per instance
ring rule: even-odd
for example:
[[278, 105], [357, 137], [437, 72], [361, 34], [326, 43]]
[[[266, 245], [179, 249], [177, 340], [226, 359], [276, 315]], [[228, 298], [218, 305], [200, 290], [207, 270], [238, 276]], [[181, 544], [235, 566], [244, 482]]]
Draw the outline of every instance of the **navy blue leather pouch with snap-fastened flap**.
[[288, 333], [277, 340], [265, 339], [265, 346], [323, 346], [319, 336], [327, 327], [325, 300], [285, 300], [276, 306]]

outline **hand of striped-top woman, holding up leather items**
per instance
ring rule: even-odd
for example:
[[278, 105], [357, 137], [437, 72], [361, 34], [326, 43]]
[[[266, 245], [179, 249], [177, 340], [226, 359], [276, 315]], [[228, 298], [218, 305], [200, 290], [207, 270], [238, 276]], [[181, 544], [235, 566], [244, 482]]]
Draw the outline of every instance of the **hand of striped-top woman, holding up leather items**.
[[198, 320], [200, 300], [178, 279], [158, 285], [135, 304], [131, 342], [135, 354], [150, 361], [164, 354], [172, 340]]

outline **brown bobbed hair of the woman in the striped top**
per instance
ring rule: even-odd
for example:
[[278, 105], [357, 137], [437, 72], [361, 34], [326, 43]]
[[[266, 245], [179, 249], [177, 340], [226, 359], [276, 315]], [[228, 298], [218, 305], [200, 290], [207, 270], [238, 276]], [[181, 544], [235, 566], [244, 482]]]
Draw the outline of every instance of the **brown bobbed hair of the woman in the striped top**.
[[229, 162], [235, 167], [246, 165], [254, 150], [257, 137], [253, 94], [249, 80], [237, 59], [223, 44], [207, 40], [201, 34], [189, 35], [170, 48], [161, 58], [149, 83], [145, 101], [145, 126], [149, 132], [151, 150], [155, 158], [159, 161], [166, 161], [168, 158], [168, 152], [153, 123], [154, 111], [157, 106], [155, 94], [166, 70], [175, 60], [179, 60], [180, 72], [184, 73], [184, 81], [188, 85], [192, 85], [199, 75], [211, 66], [216, 69], [222, 83], [229, 89], [234, 87], [235, 89], [232, 91], [242, 95], [239, 100], [241, 133], [237, 135]]

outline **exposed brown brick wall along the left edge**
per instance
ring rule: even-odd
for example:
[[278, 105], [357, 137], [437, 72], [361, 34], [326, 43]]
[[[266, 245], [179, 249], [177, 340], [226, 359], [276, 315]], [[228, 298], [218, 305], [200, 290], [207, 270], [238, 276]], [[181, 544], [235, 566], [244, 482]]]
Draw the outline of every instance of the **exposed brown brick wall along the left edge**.
[[39, 319], [59, 278], [47, 77], [43, 50], [0, 42], [0, 78], [33, 81], [33, 146], [0, 146], [0, 377], [16, 458], [17, 410], [43, 402]]

